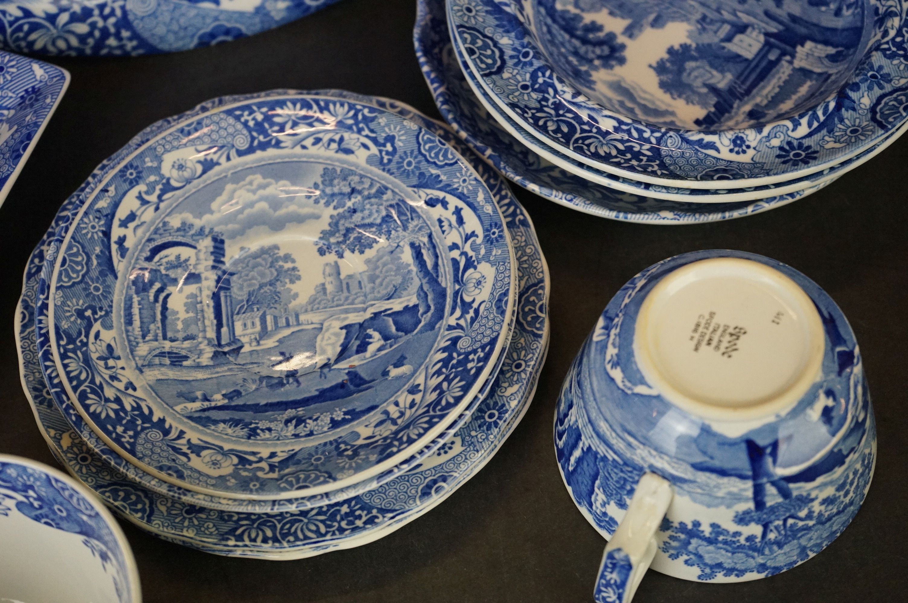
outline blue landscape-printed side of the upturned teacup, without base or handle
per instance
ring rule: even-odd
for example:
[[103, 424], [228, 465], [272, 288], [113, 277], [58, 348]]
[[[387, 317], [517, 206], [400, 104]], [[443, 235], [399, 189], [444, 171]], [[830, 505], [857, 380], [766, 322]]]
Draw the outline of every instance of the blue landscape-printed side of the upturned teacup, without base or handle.
[[[736, 436], [661, 398], [633, 360], [632, 316], [678, 261], [709, 253], [648, 268], [609, 303], [585, 344], [605, 365], [578, 356], [562, 388], [558, 466], [577, 506], [605, 535], [616, 530], [644, 472], [666, 477], [675, 500], [656, 534], [652, 567], [686, 579], [755, 579], [810, 559], [854, 518], [873, 475], [873, 410], [854, 335], [823, 289], [774, 260], [726, 251], [772, 262], [811, 297], [825, 331], [823, 376], [785, 415]], [[716, 520], [705, 525], [697, 517]]]

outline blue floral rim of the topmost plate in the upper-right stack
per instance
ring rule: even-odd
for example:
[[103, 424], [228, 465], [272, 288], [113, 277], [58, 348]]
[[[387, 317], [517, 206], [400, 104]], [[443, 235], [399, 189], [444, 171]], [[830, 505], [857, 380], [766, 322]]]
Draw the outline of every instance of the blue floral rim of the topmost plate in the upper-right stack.
[[[655, 15], [656, 5], [641, 5]], [[908, 115], [908, 38], [902, 0], [880, 0], [882, 43], [834, 99], [761, 128], [660, 130], [606, 112], [569, 90], [544, 62], [508, 0], [449, 0], [449, 19], [472, 70], [532, 135], [599, 170], [663, 186], [723, 189], [792, 180], [854, 157]]]

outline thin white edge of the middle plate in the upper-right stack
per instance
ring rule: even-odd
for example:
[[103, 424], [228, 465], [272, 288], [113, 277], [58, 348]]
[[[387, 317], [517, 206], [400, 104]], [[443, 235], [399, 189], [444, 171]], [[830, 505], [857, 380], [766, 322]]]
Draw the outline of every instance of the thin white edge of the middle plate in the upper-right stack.
[[763, 200], [767, 199], [767, 195], [782, 197], [783, 195], [786, 195], [788, 193], [800, 192], [802, 190], [807, 190], [821, 184], [828, 184], [839, 176], [842, 176], [846, 171], [854, 170], [854, 168], [858, 167], [866, 160], [872, 159], [894, 141], [898, 140], [905, 129], [905, 126], [903, 125], [901, 128], [899, 128], [899, 130], [887, 134], [883, 141], [880, 141], [872, 148], [864, 151], [859, 155], [856, 155], [850, 160], [845, 160], [844, 162], [834, 167], [826, 168], [825, 170], [818, 171], [815, 174], [811, 174], [810, 176], [796, 178], [795, 180], [787, 180], [778, 184], [767, 184], [764, 186], [735, 190], [667, 188], [656, 184], [648, 184], [646, 182], [630, 180], [621, 176], [616, 176], [615, 174], [609, 174], [605, 171], [597, 170], [596, 168], [592, 168], [585, 163], [581, 163], [577, 160], [572, 160], [567, 155], [559, 153], [556, 149], [553, 149], [547, 144], [538, 141], [536, 137], [532, 136], [526, 130], [521, 128], [517, 122], [514, 122], [513, 120], [508, 118], [507, 115], [504, 115], [502, 114], [502, 112], [500, 112], [498, 105], [495, 103], [495, 101], [489, 98], [489, 95], [482, 88], [476, 75], [470, 71], [469, 65], [467, 65], [466, 59], [463, 57], [462, 53], [459, 52], [459, 49], [455, 47], [454, 53], [457, 56], [460, 70], [463, 73], [464, 77], [467, 79], [467, 83], [469, 83], [470, 89], [479, 99], [479, 102], [481, 102], [482, 105], [486, 108], [486, 111], [489, 112], [489, 115], [491, 115], [499, 124], [502, 125], [502, 127], [504, 127], [506, 131], [508, 131], [514, 138], [518, 140], [518, 142], [522, 143], [530, 151], [537, 152], [546, 160], [551, 161], [564, 170], [568, 170], [568, 172], [570, 173], [577, 174], [577, 176], [580, 176], [584, 180], [589, 180], [590, 182], [595, 184], [602, 184], [610, 189], [615, 189], [622, 192], [645, 195], [646, 197], [652, 199], [663, 199], [686, 203], [728, 204]]

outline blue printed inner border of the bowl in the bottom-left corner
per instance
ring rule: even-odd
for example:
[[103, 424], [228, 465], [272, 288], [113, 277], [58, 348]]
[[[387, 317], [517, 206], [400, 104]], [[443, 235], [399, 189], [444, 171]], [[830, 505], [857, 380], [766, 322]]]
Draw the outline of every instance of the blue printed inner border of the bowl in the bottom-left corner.
[[117, 600], [138, 600], [130, 579], [130, 562], [114, 530], [94, 503], [71, 485], [34, 466], [0, 460], [0, 521], [11, 513], [82, 536], [84, 547], [113, 581]]

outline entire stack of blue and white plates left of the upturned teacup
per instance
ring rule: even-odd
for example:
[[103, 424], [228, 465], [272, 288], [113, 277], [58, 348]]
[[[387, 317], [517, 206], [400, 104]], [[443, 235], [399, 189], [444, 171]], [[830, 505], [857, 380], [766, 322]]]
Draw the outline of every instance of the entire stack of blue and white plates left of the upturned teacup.
[[376, 540], [489, 461], [533, 396], [548, 273], [507, 183], [349, 92], [205, 102], [64, 203], [25, 272], [25, 392], [124, 518], [298, 559]]

